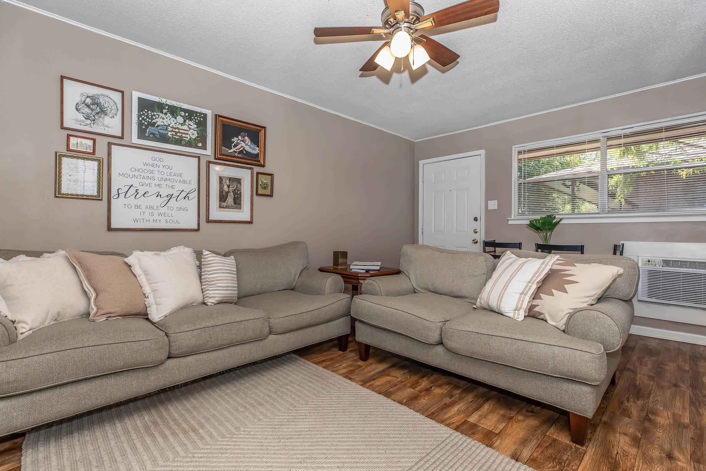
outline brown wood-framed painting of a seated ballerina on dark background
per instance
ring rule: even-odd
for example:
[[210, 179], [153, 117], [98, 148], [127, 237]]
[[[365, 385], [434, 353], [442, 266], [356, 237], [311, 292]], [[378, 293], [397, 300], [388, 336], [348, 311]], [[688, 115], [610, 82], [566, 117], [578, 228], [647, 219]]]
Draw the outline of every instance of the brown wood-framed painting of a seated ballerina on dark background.
[[216, 115], [215, 158], [265, 167], [265, 126]]

